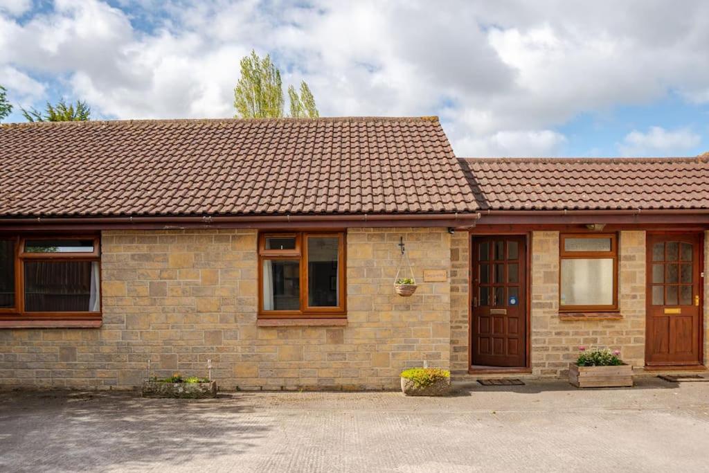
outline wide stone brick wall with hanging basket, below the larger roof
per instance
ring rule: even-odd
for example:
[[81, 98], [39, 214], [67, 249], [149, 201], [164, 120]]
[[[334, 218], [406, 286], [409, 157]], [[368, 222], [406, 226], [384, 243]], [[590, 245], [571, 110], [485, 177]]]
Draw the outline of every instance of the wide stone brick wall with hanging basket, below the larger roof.
[[[420, 286], [393, 293], [399, 237]], [[257, 327], [255, 230], [106, 231], [100, 329], [0, 330], [0, 384], [128, 388], [206, 375], [240, 389], [394, 389], [405, 367], [450, 365], [445, 229], [347, 233], [347, 326]]]

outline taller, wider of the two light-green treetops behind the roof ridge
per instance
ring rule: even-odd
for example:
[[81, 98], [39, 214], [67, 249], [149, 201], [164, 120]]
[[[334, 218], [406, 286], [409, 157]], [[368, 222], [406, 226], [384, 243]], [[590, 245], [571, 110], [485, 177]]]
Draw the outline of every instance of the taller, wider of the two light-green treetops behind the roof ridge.
[[281, 72], [271, 61], [251, 51], [241, 60], [241, 77], [234, 89], [234, 106], [241, 118], [280, 118], [283, 116]]

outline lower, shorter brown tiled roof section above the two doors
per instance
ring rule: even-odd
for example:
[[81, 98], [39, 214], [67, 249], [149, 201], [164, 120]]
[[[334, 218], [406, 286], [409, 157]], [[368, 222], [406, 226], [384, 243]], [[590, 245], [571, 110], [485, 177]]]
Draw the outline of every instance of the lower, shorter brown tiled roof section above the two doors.
[[709, 158], [464, 158], [479, 208], [709, 208]]

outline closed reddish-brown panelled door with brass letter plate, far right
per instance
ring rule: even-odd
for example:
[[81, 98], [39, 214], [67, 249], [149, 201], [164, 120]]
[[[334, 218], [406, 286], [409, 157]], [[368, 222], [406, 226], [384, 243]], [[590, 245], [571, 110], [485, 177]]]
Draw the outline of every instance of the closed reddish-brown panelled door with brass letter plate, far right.
[[646, 365], [700, 365], [699, 234], [647, 236]]

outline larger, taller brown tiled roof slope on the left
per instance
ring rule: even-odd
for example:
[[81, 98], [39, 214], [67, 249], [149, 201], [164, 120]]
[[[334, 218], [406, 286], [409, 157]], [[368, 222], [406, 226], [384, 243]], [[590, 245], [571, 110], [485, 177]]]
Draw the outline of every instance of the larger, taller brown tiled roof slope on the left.
[[435, 117], [0, 126], [0, 216], [453, 213], [474, 206]]

